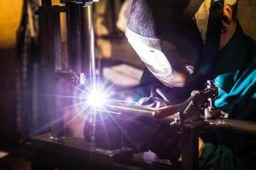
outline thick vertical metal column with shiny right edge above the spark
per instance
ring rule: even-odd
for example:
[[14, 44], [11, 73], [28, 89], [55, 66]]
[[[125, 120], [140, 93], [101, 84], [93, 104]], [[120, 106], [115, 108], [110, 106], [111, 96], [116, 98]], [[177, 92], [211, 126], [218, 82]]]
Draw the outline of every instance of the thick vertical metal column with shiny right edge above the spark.
[[[80, 2], [80, 3], [79, 3]], [[68, 59], [71, 71], [96, 82], [92, 1], [65, 2], [67, 7]]]

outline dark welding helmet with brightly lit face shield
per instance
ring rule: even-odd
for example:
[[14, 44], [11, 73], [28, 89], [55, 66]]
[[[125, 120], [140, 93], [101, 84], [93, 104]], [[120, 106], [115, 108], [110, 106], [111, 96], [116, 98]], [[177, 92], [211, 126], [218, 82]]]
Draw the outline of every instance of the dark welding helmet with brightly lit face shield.
[[223, 8], [224, 0], [134, 0], [125, 35], [154, 77], [184, 87], [214, 72]]

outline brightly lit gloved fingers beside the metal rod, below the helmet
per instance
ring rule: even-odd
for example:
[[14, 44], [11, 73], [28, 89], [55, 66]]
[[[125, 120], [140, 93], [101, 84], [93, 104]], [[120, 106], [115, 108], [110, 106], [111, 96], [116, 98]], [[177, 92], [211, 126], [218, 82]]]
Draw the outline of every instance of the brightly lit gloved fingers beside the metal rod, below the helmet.
[[168, 104], [165, 100], [159, 99], [157, 97], [143, 97], [139, 99], [139, 101], [137, 102], [137, 105], [143, 105], [143, 106], [152, 107], [152, 108], [160, 108]]

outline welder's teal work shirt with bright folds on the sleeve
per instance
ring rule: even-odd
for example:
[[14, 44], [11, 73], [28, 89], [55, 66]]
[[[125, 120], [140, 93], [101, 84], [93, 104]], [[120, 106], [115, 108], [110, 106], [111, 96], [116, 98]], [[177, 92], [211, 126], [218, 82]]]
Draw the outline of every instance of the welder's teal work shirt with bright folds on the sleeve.
[[[238, 24], [234, 36], [221, 50], [215, 83], [219, 88], [215, 105], [230, 118], [256, 121], [256, 45]], [[238, 137], [235, 147], [206, 144], [200, 169], [256, 169], [256, 142]]]

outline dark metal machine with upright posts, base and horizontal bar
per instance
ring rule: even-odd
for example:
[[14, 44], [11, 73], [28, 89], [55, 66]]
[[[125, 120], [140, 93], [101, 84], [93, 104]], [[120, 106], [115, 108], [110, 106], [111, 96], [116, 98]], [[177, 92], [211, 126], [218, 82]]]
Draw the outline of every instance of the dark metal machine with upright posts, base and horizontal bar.
[[[67, 89], [75, 87], [73, 89], [77, 90], [79, 105], [84, 105], [81, 111], [88, 112], [84, 139], [65, 134], [62, 108], [68, 99], [56, 98], [51, 133], [32, 137], [26, 144], [32, 169], [198, 169], [198, 133], [201, 130], [225, 128], [251, 137], [256, 134], [255, 123], [225, 119], [224, 113], [212, 106], [218, 96], [218, 88], [212, 81], [207, 82], [204, 90], [193, 91], [183, 103], [171, 105], [166, 102], [166, 106], [160, 108], [127, 103], [114, 99], [112, 94], [104, 94], [104, 90], [97, 91], [93, 28], [96, 1], [61, 0], [61, 3], [63, 6], [53, 6], [51, 0], [42, 0], [38, 8], [40, 54], [55, 74], [54, 81], [49, 82], [52, 94], [73, 96], [74, 92]], [[67, 15], [68, 62], [61, 55], [60, 13]], [[96, 124], [96, 118], [101, 116], [99, 112], [107, 112], [112, 118], [105, 123], [108, 126], [105, 129]], [[183, 156], [180, 165], [134, 158], [135, 150], [124, 143], [124, 122], [134, 120], [177, 126], [181, 132]], [[101, 138], [107, 136], [104, 130], [111, 133], [110, 137]]]

